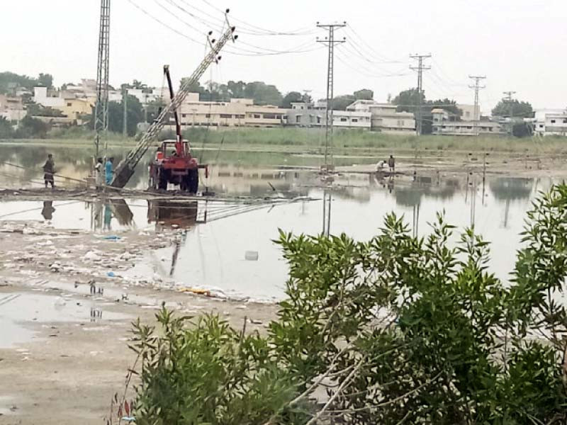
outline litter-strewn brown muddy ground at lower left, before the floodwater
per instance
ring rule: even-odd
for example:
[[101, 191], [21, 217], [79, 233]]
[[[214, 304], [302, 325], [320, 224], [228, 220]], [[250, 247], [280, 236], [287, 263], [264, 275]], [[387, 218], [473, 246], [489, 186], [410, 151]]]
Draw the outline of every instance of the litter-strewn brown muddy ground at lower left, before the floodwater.
[[247, 329], [265, 330], [274, 305], [124, 276], [145, 249], [171, 244], [178, 232], [112, 240], [41, 223], [0, 224], [0, 424], [103, 423], [135, 357], [130, 322], [153, 322], [162, 302], [184, 314], [220, 314], [239, 329], [247, 317]]

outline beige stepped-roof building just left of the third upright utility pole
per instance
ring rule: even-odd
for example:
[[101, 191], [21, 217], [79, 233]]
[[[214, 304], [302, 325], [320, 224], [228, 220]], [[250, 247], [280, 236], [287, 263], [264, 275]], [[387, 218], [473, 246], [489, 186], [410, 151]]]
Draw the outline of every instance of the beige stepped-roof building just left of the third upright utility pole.
[[391, 103], [359, 100], [347, 107], [347, 111], [370, 113], [371, 130], [391, 134], [415, 132], [415, 116], [410, 112], [398, 112]]

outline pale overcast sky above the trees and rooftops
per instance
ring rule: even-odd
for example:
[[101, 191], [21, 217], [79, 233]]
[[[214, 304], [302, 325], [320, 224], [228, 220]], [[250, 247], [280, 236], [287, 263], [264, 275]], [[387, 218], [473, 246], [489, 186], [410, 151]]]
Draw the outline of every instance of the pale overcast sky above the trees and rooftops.
[[[161, 86], [163, 64], [171, 65], [175, 79], [191, 74], [203, 57], [204, 34], [218, 33], [219, 9], [230, 7], [240, 40], [202, 82], [266, 81], [283, 92], [312, 90], [322, 98], [327, 51], [315, 42], [325, 37], [315, 25], [347, 21], [337, 31], [347, 42], [337, 47], [335, 94], [367, 88], [385, 101], [416, 86], [410, 53], [431, 53], [427, 98], [472, 103], [468, 75], [475, 74], [487, 77], [483, 111], [510, 90], [535, 108], [567, 106], [565, 0], [111, 2], [110, 74], [116, 86], [133, 79]], [[2, 6], [0, 71], [47, 72], [56, 85], [95, 77], [99, 0], [10, 0]], [[282, 51], [296, 53], [257, 54]]]

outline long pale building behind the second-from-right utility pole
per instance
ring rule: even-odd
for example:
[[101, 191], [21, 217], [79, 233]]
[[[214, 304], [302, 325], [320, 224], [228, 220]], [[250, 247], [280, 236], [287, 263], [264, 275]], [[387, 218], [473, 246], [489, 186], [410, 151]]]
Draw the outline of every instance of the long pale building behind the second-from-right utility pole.
[[435, 108], [432, 114], [432, 134], [442, 136], [474, 136], [477, 134], [503, 135], [500, 123], [490, 120], [451, 120], [451, 114]]

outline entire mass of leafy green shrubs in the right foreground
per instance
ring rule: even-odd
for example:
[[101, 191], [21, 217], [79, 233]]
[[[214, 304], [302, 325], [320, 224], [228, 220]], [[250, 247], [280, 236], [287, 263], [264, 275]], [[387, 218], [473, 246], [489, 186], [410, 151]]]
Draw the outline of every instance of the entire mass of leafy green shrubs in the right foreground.
[[567, 423], [567, 186], [529, 213], [511, 285], [442, 215], [425, 239], [388, 215], [369, 242], [278, 243], [288, 299], [267, 336], [166, 310], [162, 335], [135, 324], [138, 424]]

